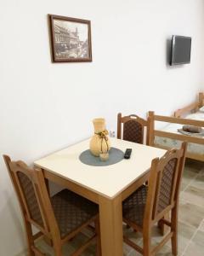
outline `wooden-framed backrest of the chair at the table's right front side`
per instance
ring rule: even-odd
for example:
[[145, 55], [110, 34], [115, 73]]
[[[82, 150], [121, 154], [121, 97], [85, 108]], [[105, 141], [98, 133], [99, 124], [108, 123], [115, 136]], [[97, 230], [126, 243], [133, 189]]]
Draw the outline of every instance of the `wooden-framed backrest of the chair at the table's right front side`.
[[156, 222], [178, 204], [187, 143], [151, 163], [144, 219]]

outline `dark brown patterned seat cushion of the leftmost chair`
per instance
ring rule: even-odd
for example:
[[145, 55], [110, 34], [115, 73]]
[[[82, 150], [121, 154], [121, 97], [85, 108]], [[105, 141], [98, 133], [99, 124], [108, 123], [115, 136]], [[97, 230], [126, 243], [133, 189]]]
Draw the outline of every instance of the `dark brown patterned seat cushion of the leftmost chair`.
[[61, 237], [70, 234], [99, 212], [97, 204], [68, 189], [54, 195], [51, 203]]

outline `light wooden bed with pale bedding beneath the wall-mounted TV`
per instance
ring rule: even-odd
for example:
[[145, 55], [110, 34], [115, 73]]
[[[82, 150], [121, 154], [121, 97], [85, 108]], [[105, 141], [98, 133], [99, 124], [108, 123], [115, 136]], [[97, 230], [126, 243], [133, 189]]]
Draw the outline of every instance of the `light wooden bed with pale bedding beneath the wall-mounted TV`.
[[[186, 156], [190, 159], [204, 161], [204, 93], [199, 94], [197, 102], [178, 109], [173, 117], [157, 115], [150, 111], [148, 119], [150, 146], [165, 149], [179, 148], [181, 143], [186, 141], [189, 143]], [[161, 129], [156, 129], [157, 122], [164, 122], [166, 125]], [[199, 127], [201, 132], [183, 131], [183, 125]]]

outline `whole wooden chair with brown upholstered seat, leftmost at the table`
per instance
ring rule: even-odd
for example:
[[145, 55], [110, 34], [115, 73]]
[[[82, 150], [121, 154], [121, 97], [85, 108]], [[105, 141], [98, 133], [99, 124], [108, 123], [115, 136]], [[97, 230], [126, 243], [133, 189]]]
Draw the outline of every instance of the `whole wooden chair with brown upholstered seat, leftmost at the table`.
[[[49, 197], [42, 170], [31, 169], [22, 161], [11, 161], [3, 155], [8, 173], [20, 202], [23, 215], [28, 254], [42, 256], [35, 246], [39, 236], [45, 236], [54, 247], [54, 255], [62, 255], [62, 245], [71, 240], [82, 229], [95, 224], [94, 235], [71, 256], [80, 255], [91, 242], [97, 239], [97, 255], [100, 254], [98, 205], [68, 189]], [[39, 232], [32, 235], [31, 225]]]

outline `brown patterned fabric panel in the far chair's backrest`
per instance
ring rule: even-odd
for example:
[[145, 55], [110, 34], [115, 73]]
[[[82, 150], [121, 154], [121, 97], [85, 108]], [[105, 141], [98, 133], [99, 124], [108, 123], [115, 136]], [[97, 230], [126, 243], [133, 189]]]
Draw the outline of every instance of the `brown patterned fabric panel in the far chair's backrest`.
[[137, 121], [127, 121], [123, 125], [123, 140], [143, 143], [143, 126]]

